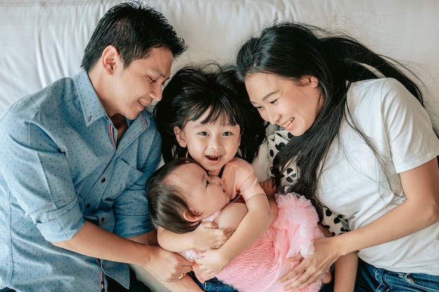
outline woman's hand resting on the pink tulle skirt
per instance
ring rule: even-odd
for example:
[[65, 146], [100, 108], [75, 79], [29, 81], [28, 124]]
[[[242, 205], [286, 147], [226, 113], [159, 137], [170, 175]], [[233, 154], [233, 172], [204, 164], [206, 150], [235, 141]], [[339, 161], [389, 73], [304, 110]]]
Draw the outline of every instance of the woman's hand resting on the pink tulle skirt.
[[[330, 267], [340, 257], [337, 247], [333, 240], [334, 237], [323, 237], [314, 241], [314, 253], [304, 258], [302, 263], [281, 277], [281, 283], [297, 277], [294, 281], [284, 286], [284, 290], [290, 289], [301, 290], [306, 286], [313, 284], [321, 279], [323, 275], [330, 270]], [[299, 258], [291, 258], [296, 261]]]

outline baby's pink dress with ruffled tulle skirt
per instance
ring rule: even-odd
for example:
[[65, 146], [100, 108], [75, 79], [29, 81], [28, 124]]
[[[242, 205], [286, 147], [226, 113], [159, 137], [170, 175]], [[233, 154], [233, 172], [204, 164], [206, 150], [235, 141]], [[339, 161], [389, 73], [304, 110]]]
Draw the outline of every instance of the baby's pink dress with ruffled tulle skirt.
[[[295, 193], [275, 194], [275, 197], [278, 204], [276, 220], [252, 246], [214, 275], [238, 291], [283, 291], [286, 283], [279, 283], [278, 279], [299, 264], [298, 261], [292, 263], [288, 258], [299, 253], [306, 258], [314, 251], [313, 240], [323, 237], [317, 225], [316, 209], [308, 199]], [[215, 218], [210, 216], [206, 219]], [[186, 251], [184, 255], [196, 258], [194, 251]], [[194, 271], [202, 282], [212, 278], [200, 274], [196, 264]], [[319, 291], [320, 286], [321, 281], [317, 281], [301, 291]]]

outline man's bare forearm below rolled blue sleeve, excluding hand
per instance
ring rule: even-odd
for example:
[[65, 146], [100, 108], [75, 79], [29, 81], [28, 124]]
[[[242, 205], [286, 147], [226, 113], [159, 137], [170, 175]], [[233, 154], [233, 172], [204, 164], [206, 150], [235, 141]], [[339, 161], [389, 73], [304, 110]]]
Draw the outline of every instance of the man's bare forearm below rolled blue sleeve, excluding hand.
[[93, 258], [136, 265], [147, 263], [148, 249], [151, 248], [151, 246], [119, 237], [88, 221], [72, 239], [53, 242], [53, 244]]

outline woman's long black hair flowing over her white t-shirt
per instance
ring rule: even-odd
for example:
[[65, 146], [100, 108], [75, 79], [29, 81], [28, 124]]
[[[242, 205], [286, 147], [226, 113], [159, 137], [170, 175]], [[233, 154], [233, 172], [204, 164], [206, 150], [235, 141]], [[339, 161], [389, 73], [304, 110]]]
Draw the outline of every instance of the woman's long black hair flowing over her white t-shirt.
[[295, 161], [299, 179], [290, 191], [310, 199], [320, 218], [322, 208], [316, 198], [319, 167], [339, 133], [342, 120], [346, 119], [374, 151], [372, 143], [351, 119], [349, 108], [345, 114], [346, 92], [351, 82], [393, 77], [423, 103], [418, 86], [398, 69], [400, 63], [373, 53], [349, 36], [332, 36], [311, 25], [281, 22], [268, 27], [261, 36], [249, 39], [242, 46], [236, 62], [242, 80], [257, 72], [276, 74], [292, 81], [304, 76], [318, 79], [323, 106], [311, 128], [301, 136], [291, 137], [278, 152], [273, 161], [273, 173], [279, 183], [285, 167]]

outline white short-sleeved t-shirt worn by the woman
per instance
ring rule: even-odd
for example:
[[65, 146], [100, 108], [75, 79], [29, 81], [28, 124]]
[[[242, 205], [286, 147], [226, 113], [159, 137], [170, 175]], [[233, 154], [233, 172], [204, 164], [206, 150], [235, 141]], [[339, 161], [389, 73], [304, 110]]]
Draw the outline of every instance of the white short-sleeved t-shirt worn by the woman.
[[[353, 83], [347, 105], [357, 128], [383, 159], [385, 173], [374, 152], [345, 121], [328, 152], [318, 197], [356, 230], [405, 201], [398, 173], [438, 156], [439, 140], [419, 101], [395, 79]], [[439, 223], [365, 248], [358, 256], [386, 270], [439, 275]]]

